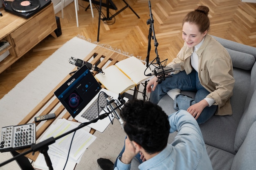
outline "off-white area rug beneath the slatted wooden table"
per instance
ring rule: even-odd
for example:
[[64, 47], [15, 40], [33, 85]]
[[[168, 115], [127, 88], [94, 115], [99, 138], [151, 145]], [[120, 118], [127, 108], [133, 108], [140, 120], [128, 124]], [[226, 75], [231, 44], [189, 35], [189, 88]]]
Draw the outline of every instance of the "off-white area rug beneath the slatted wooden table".
[[[110, 50], [111, 46], [99, 44]], [[16, 125], [27, 115], [61, 80], [74, 69], [68, 62], [69, 57], [85, 58], [97, 44], [90, 43], [79, 37], [74, 37], [55, 51], [34, 71], [29, 73], [16, 87], [0, 100], [0, 127]], [[124, 55], [124, 53], [115, 50]], [[103, 132], [95, 132], [97, 139], [85, 151], [81, 162], [75, 170], [100, 170], [97, 159], [100, 157], [115, 161], [124, 145], [125, 133], [119, 122], [108, 126]], [[0, 153], [0, 162], [10, 159], [9, 152]], [[13, 161], [0, 170], [19, 170], [18, 164]]]

